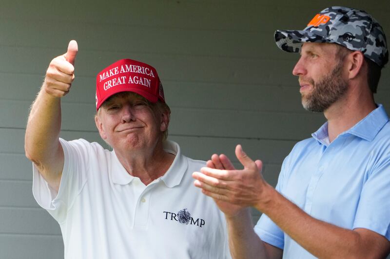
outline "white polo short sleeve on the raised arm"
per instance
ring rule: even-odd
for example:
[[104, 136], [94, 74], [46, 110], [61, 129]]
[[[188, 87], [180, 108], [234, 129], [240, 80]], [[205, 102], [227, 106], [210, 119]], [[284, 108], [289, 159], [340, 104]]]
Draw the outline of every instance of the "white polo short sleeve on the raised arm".
[[33, 164], [33, 195], [40, 207], [61, 222], [68, 208], [86, 183], [90, 143], [84, 139], [66, 141], [59, 139], [64, 152], [59, 191], [50, 188]]

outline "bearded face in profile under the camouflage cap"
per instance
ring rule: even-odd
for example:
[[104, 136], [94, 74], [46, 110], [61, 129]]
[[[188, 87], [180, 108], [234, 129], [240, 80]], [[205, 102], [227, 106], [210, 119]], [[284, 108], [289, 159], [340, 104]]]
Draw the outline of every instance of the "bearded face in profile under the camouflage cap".
[[292, 73], [299, 76], [302, 105], [323, 112], [345, 95], [348, 82], [343, 77], [344, 58], [334, 44], [305, 43]]

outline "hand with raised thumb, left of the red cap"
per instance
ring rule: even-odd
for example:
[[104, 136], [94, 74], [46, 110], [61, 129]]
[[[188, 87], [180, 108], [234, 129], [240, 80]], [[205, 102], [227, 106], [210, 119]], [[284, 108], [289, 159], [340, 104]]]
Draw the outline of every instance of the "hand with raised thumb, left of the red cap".
[[75, 79], [75, 58], [78, 52], [77, 42], [71, 40], [68, 45], [68, 51], [54, 58], [46, 71], [45, 81], [42, 87], [49, 95], [53, 97], [65, 96]]

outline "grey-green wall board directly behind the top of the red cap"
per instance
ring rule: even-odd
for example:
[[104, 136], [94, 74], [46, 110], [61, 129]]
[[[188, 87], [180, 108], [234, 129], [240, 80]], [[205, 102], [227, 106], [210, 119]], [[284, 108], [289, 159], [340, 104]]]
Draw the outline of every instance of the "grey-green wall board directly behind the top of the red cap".
[[[63, 50], [47, 50], [26, 47], [0, 48], [0, 72], [27, 73], [43, 75], [50, 61], [66, 52], [67, 42]], [[160, 53], [99, 52], [79, 49], [75, 64], [78, 76], [95, 77], [101, 69], [124, 57], [143, 61], [154, 66], [164, 82], [191, 81], [228, 84], [262, 84], [281, 85], [280, 82], [296, 86], [296, 78], [292, 75], [294, 60], [285, 59], [245, 59], [209, 56], [165, 55]], [[298, 56], [297, 56], [298, 57]], [[34, 65], [26, 60], [34, 60]], [[75, 80], [74, 85], [77, 85]]]

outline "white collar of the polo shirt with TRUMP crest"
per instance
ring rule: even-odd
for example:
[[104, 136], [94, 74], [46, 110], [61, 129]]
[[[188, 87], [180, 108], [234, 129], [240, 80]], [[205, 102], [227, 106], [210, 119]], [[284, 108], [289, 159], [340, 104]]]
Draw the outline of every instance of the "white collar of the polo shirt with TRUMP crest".
[[[165, 152], [174, 154], [175, 159], [172, 162], [172, 165], [169, 167], [168, 171], [159, 179], [161, 179], [161, 181], [163, 181], [167, 187], [172, 188], [180, 184], [181, 179], [187, 170], [188, 163], [185, 157], [181, 155], [180, 147], [176, 142], [170, 140], [164, 141], [163, 148]], [[131, 183], [136, 177], [127, 173], [126, 169], [119, 162], [115, 151], [111, 152], [111, 158], [111, 179], [113, 183], [120, 185], [127, 185]]]

